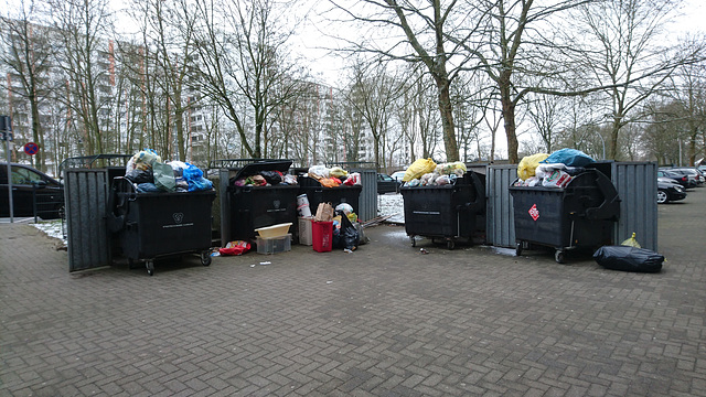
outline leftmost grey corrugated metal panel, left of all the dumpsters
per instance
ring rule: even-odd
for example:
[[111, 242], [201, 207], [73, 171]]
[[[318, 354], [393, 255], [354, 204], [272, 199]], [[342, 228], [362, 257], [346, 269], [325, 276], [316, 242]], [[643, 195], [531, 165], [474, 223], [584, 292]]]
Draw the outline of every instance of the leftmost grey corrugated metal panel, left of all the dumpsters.
[[66, 230], [68, 271], [109, 266], [110, 240], [106, 226], [108, 171], [66, 170]]

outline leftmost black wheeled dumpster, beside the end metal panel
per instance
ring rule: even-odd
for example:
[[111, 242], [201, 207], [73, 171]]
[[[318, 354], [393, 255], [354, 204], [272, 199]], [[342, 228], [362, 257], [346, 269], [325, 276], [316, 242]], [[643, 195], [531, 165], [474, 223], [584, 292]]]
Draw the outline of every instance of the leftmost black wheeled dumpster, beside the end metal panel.
[[211, 265], [211, 205], [215, 191], [142, 193], [130, 180], [113, 183], [110, 229], [130, 264], [143, 260], [148, 275], [154, 259], [196, 253]]

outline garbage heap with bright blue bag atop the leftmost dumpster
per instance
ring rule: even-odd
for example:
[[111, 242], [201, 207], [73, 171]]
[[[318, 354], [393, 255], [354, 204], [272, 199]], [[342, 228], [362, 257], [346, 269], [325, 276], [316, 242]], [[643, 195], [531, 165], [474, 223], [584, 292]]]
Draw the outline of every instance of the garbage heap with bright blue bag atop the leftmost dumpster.
[[125, 178], [138, 193], [196, 192], [213, 190], [213, 182], [197, 167], [182, 161], [162, 162], [152, 149], [141, 150], [128, 161]]

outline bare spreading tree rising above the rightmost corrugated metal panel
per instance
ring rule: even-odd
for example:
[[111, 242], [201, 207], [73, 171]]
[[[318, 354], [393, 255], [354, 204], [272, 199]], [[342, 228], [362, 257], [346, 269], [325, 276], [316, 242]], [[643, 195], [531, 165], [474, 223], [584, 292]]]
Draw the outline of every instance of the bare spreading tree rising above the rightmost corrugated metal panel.
[[685, 51], [659, 45], [663, 25], [678, 6], [673, 0], [608, 0], [585, 4], [575, 22], [581, 39], [577, 68], [603, 87], [610, 106], [608, 158], [620, 157], [623, 127], [644, 119], [642, 104], [664, 88], [680, 65], [696, 62], [703, 43]]

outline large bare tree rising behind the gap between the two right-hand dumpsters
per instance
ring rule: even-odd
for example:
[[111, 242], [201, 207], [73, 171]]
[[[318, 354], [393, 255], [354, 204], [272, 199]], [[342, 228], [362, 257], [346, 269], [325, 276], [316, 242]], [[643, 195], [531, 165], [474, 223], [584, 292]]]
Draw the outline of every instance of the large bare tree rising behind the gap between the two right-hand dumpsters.
[[[468, 30], [449, 33], [451, 42], [478, 60], [478, 64], [471, 65], [471, 69], [486, 73], [499, 89], [511, 163], [518, 160], [515, 112], [524, 97], [532, 92], [578, 95], [557, 92], [554, 86], [544, 86], [566, 69], [566, 66], [556, 62], [558, 45], [550, 34], [553, 24], [549, 20], [590, 1], [535, 3], [534, 0], [482, 0], [473, 7], [478, 9], [478, 13], [488, 15], [482, 19], [484, 23], [480, 26], [483, 29], [471, 24], [470, 33]], [[482, 34], [475, 35], [478, 42], [471, 46], [469, 43], [472, 42], [468, 37], [473, 32]]]

